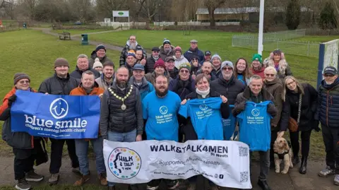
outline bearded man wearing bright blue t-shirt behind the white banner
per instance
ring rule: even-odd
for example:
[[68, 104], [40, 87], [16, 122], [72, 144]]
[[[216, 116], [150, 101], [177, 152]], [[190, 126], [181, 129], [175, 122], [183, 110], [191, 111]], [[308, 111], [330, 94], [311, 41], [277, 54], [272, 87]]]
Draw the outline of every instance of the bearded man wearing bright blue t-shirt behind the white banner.
[[[180, 97], [168, 90], [168, 79], [160, 75], [155, 78], [155, 92], [151, 92], [143, 99], [143, 119], [146, 120], [146, 136], [148, 140], [178, 141], [179, 122], [177, 113], [180, 108]], [[153, 179], [148, 182], [148, 190], [159, 188], [162, 179]], [[167, 189], [177, 189], [179, 181], [165, 179]]]

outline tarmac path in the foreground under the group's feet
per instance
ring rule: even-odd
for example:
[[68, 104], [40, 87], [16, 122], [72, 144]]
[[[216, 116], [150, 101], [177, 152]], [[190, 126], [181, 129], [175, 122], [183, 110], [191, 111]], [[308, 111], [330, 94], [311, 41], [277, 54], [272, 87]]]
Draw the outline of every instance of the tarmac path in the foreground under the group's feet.
[[[0, 186], [11, 185], [13, 186], [16, 182], [14, 181], [13, 172], [13, 157], [0, 157]], [[324, 162], [309, 161], [309, 167], [307, 168], [307, 174], [299, 174], [299, 165], [292, 168], [288, 174], [275, 174], [274, 170], [270, 170], [268, 176], [268, 184], [270, 184], [273, 190], [338, 190], [339, 186], [333, 184], [333, 176], [328, 178], [318, 177], [317, 173], [323, 169]], [[44, 183], [47, 183], [49, 177], [49, 162], [40, 165], [35, 168], [36, 172], [45, 176]], [[254, 190], [259, 190], [256, 185], [257, 177], [260, 171], [259, 162], [253, 161], [251, 167], [251, 183], [254, 186]], [[90, 159], [90, 173], [91, 179], [87, 184], [98, 184], [96, 172], [95, 172], [95, 161], [93, 158]], [[60, 184], [73, 184], [76, 179], [79, 178], [77, 174], [71, 172], [71, 161], [68, 157], [64, 157], [62, 160], [62, 166], [60, 170], [61, 178]], [[40, 184], [43, 182], [40, 182]], [[36, 185], [36, 184], [33, 184]], [[122, 190], [122, 189], [121, 189]], [[229, 188], [223, 188], [222, 190], [230, 190]]]

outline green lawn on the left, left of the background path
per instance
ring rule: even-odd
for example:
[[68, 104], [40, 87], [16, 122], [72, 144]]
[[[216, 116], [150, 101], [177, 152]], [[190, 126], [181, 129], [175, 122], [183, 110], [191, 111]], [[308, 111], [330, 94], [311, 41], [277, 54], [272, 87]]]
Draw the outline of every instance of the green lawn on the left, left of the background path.
[[[80, 42], [58, 40], [58, 37], [46, 35], [36, 30], [20, 30], [0, 33], [1, 45], [1, 88], [0, 98], [13, 88], [14, 73], [24, 72], [31, 78], [31, 86], [38, 89], [40, 83], [54, 73], [54, 61], [64, 57], [69, 61], [70, 73], [76, 68], [78, 54], [87, 54], [95, 46], [83, 46]], [[5, 45], [6, 44], [6, 45]], [[120, 52], [107, 49], [107, 56], [118, 63]], [[0, 130], [2, 123], [0, 123]], [[0, 155], [12, 155], [6, 142], [0, 141]]]

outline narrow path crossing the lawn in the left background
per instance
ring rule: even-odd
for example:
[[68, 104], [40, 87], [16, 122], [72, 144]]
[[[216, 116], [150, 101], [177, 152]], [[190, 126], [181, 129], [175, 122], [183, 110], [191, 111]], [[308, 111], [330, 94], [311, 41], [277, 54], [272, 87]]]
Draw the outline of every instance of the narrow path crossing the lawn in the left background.
[[[59, 39], [59, 34], [52, 32], [52, 29], [50, 29], [50, 28], [32, 28], [32, 29], [33, 30], [41, 30], [45, 34], [54, 35], [54, 36], [58, 37], [58, 39]], [[94, 34], [101, 34], [101, 33], [107, 33], [107, 32], [117, 32], [117, 31], [120, 31], [120, 30], [121, 29], [119, 29], [119, 30], [107, 30], [107, 31], [102, 31], [102, 32], [90, 32], [90, 33], [87, 33], [87, 34], [88, 35], [94, 35]], [[79, 35], [71, 35], [71, 40], [81, 42], [81, 35], [80, 34]], [[97, 41], [93, 41], [93, 40], [88, 40], [88, 43], [91, 44], [91, 45], [95, 45], [95, 46], [97, 46], [99, 44], [103, 44], [106, 49], [111, 49], [113, 51], [118, 51], [118, 52], [121, 52], [122, 49], [124, 49], [124, 47], [120, 47], [120, 46], [113, 45], [113, 44], [107, 44], [105, 42], [97, 42]], [[150, 54], [147, 54], [147, 57], [150, 57]]]

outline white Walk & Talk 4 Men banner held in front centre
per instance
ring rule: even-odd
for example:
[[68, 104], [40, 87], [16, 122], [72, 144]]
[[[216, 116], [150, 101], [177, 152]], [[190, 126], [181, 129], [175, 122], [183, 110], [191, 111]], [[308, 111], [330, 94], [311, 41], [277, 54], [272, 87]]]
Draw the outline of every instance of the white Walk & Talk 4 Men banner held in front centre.
[[104, 141], [107, 181], [141, 184], [202, 174], [219, 186], [251, 189], [249, 146], [239, 141]]

